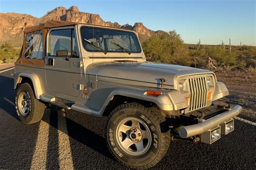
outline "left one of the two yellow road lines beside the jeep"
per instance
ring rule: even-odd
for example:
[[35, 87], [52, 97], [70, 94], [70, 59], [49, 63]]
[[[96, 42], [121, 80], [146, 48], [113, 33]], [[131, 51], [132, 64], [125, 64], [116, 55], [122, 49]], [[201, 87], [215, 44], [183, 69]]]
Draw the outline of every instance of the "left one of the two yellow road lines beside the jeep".
[[47, 160], [49, 124], [40, 121], [35, 151], [33, 153], [31, 169], [45, 169]]

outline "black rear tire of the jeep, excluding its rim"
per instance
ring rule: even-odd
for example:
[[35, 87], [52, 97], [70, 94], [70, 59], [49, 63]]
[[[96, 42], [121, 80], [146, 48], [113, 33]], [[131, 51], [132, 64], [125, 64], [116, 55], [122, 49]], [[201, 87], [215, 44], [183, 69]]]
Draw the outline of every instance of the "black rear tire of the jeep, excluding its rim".
[[[25, 92], [30, 99], [30, 108], [29, 112], [27, 115], [23, 115], [21, 111], [19, 111], [19, 106], [18, 106], [18, 99], [19, 95]], [[19, 120], [22, 121], [24, 124], [33, 124], [37, 123], [40, 121], [44, 115], [45, 111], [45, 104], [43, 104], [41, 101], [37, 100], [35, 98], [35, 94], [30, 86], [29, 83], [23, 83], [18, 86], [17, 92], [16, 92], [16, 97], [15, 97], [15, 108], [16, 112], [18, 114]]]

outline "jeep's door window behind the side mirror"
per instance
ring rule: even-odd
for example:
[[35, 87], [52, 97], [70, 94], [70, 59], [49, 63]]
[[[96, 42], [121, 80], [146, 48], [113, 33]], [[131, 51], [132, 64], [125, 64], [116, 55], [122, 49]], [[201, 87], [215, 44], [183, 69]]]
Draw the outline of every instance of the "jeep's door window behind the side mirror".
[[68, 51], [68, 57], [79, 57], [75, 30], [53, 30], [50, 33], [49, 56], [57, 56], [58, 50]]

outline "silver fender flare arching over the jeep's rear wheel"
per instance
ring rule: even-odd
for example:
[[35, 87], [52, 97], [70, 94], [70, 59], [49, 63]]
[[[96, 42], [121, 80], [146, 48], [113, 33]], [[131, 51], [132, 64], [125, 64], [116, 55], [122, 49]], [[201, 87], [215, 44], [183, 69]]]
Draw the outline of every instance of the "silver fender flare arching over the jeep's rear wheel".
[[18, 85], [22, 83], [29, 83], [35, 93], [35, 97], [40, 99], [43, 92], [40, 80], [35, 73], [19, 73], [14, 83], [14, 89], [17, 89]]

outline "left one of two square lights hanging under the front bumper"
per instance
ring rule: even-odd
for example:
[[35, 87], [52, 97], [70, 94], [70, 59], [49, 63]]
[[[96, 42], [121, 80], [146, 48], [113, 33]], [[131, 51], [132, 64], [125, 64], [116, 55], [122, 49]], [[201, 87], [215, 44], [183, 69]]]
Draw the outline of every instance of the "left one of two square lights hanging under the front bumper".
[[206, 144], [212, 144], [218, 139], [220, 139], [220, 126], [201, 134], [201, 142]]

